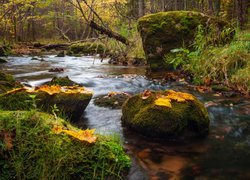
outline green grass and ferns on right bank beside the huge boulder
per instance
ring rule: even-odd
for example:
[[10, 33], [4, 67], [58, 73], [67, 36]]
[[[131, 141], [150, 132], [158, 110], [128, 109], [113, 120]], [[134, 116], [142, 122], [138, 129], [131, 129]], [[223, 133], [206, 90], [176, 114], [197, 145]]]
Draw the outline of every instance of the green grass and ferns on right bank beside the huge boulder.
[[249, 94], [250, 31], [238, 31], [234, 40], [226, 45], [208, 42], [211, 42], [211, 36], [205, 36], [202, 27], [198, 27], [194, 50], [173, 49], [173, 56], [165, 60], [175, 68], [190, 72], [195, 84], [201, 85], [210, 80]]

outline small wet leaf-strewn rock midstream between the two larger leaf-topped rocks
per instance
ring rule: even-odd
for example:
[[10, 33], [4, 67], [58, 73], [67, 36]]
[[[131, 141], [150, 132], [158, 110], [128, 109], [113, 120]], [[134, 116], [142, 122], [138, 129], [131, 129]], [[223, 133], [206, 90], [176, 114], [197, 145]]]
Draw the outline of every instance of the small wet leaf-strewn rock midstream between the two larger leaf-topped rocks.
[[100, 107], [109, 107], [120, 109], [123, 103], [130, 97], [127, 93], [111, 92], [108, 95], [102, 95], [94, 100], [94, 104]]

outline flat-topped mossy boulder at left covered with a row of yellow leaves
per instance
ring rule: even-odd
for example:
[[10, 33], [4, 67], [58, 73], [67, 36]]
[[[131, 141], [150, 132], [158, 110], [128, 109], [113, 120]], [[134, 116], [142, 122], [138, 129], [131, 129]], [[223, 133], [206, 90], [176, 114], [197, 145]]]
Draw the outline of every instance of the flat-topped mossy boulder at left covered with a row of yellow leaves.
[[93, 93], [78, 86], [48, 86], [19, 88], [0, 96], [2, 110], [30, 110], [66, 115], [72, 121], [80, 119]]

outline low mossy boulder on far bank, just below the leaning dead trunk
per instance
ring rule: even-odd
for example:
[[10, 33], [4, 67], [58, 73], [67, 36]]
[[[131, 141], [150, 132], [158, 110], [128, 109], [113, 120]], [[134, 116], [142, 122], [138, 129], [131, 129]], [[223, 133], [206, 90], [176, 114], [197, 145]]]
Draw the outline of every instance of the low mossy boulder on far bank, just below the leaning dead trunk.
[[107, 48], [102, 43], [78, 43], [69, 47], [68, 55], [94, 55], [104, 54]]

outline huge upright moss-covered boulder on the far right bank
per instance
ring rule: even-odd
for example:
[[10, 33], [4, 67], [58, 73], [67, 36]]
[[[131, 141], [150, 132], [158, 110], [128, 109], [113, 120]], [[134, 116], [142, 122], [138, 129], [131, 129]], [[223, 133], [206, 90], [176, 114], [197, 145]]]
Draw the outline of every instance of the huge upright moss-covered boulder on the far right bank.
[[[234, 35], [234, 30], [227, 22], [199, 12], [160, 12], [140, 18], [138, 30], [151, 70], [173, 69], [171, 64], [164, 62], [164, 56], [176, 48], [183, 46], [192, 48], [190, 45], [194, 41], [199, 25], [202, 25], [207, 32], [213, 29], [213, 38], [218, 42], [230, 41]], [[228, 28], [231, 30], [223, 32]]]

